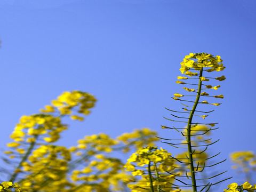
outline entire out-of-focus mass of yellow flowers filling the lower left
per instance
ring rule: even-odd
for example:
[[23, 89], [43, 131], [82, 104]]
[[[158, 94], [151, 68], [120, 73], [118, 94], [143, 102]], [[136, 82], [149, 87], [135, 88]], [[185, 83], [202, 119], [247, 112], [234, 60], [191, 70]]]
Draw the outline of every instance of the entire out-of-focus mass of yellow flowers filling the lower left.
[[10, 150], [4, 152], [17, 162], [10, 181], [19, 181], [28, 192], [123, 191], [123, 179], [135, 178], [124, 171], [124, 163], [114, 154], [154, 146], [159, 140], [156, 132], [143, 128], [116, 139], [99, 133], [85, 136], [69, 149], [54, 145], [68, 129], [63, 117], [83, 121], [95, 101], [89, 93], [64, 92], [41, 114], [22, 116], [10, 135], [14, 141], [7, 143]]

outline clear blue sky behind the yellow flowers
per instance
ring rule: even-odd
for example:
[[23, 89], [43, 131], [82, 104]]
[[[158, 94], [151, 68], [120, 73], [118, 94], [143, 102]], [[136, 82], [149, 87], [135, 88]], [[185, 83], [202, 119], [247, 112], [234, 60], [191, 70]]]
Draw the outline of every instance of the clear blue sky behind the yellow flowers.
[[[237, 150], [255, 153], [255, 7], [242, 0], [1, 0], [1, 147], [20, 116], [70, 90], [92, 93], [98, 102], [84, 123], [71, 124], [62, 145], [141, 127], [173, 138], [160, 125], [172, 125], [164, 107], [181, 107], [171, 99], [182, 92], [175, 84], [180, 62], [190, 52], [207, 52], [221, 55], [227, 67], [213, 74], [227, 77], [212, 83], [221, 85], [215, 92], [225, 95], [222, 105], [205, 106], [216, 109], [208, 122], [221, 127], [211, 151], [223, 159]], [[222, 186], [243, 182], [230, 166], [217, 167], [235, 176]]]

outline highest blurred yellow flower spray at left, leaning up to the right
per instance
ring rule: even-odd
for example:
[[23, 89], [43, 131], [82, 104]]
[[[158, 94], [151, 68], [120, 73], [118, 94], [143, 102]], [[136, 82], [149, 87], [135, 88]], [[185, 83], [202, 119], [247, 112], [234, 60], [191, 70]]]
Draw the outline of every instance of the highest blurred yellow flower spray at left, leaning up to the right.
[[52, 101], [52, 106], [48, 105], [41, 109], [42, 114], [22, 116], [10, 135], [14, 142], [7, 143], [7, 147], [14, 151], [5, 151], [5, 154], [10, 158], [14, 158], [17, 152], [25, 154], [27, 148], [23, 142], [35, 143], [39, 137], [43, 137], [44, 141], [49, 143], [58, 141], [60, 133], [67, 130], [67, 125], [61, 123], [61, 117], [68, 115], [73, 120], [83, 121], [84, 118], [74, 114], [74, 111], [77, 111], [77, 114], [88, 115], [95, 101], [89, 93], [64, 92], [57, 100]]

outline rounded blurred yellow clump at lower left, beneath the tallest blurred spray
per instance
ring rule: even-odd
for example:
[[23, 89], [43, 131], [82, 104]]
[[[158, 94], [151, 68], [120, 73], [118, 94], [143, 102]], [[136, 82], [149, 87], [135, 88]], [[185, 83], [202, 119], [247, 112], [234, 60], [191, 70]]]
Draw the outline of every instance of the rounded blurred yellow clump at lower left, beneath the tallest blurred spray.
[[51, 182], [51, 190], [57, 189], [55, 185], [65, 179], [70, 160], [71, 155], [65, 147], [54, 145], [38, 147], [28, 157], [28, 162], [21, 163], [20, 172], [28, 175], [22, 179], [21, 185], [28, 191], [31, 188], [47, 191], [47, 184]]

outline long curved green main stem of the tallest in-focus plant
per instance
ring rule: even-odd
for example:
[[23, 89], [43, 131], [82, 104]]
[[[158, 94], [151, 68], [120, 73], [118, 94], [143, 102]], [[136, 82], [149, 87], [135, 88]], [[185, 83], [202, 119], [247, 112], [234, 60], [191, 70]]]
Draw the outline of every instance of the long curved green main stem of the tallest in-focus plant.
[[187, 124], [187, 143], [188, 143], [188, 157], [189, 157], [189, 165], [190, 165], [190, 173], [191, 173], [191, 180], [192, 180], [192, 185], [193, 185], [193, 192], [196, 192], [196, 178], [195, 178], [195, 168], [194, 168], [194, 163], [193, 163], [193, 154], [192, 154], [192, 147], [191, 147], [191, 122], [193, 115], [196, 110], [196, 106], [198, 104], [200, 94], [201, 94], [201, 86], [202, 86], [202, 81], [200, 77], [202, 77], [203, 74], [203, 67], [200, 69], [200, 74], [199, 74], [199, 83], [198, 83], [198, 91], [196, 95], [196, 100], [194, 103], [193, 108], [190, 111], [189, 118], [188, 118], [188, 124]]

